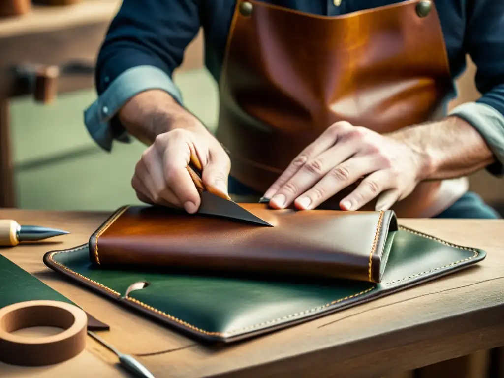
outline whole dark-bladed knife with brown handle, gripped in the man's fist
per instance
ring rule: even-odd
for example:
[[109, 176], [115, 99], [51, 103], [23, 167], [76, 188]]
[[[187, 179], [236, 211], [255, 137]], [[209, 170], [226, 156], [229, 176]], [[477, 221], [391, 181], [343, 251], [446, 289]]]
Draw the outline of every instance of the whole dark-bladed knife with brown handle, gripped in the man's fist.
[[201, 163], [193, 154], [191, 155], [191, 163], [187, 165], [187, 171], [198, 188], [198, 192], [200, 192], [201, 205], [198, 210], [199, 213], [224, 216], [249, 223], [260, 224], [262, 226], [273, 227], [270, 223], [243, 209], [224, 193], [218, 192], [213, 188], [207, 188], [202, 180], [203, 168]]

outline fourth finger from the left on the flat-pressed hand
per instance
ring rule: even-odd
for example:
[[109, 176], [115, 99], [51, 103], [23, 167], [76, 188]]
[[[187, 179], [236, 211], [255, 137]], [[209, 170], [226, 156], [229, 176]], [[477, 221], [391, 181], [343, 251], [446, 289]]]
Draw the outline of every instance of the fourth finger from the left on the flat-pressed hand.
[[358, 210], [369, 201], [394, 186], [394, 179], [387, 170], [377, 170], [365, 177], [355, 190], [340, 202], [341, 210]]

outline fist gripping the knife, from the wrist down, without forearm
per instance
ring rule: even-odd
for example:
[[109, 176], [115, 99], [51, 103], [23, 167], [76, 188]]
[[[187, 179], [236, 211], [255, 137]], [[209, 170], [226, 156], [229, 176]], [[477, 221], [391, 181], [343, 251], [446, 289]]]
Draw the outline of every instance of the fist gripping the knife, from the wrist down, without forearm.
[[230, 160], [220, 143], [194, 116], [156, 137], [137, 163], [132, 186], [140, 201], [184, 208], [195, 213], [201, 198], [186, 167], [195, 157], [201, 163], [202, 180], [213, 193], [229, 198], [227, 179]]

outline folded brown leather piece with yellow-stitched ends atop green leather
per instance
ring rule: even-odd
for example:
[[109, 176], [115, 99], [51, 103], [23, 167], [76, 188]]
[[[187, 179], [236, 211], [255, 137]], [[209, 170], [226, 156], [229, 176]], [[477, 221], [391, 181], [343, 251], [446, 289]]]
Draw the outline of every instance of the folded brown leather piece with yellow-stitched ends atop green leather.
[[164, 207], [124, 207], [90, 238], [90, 259], [102, 268], [143, 266], [381, 281], [397, 230], [393, 211], [295, 211], [239, 205], [274, 227]]

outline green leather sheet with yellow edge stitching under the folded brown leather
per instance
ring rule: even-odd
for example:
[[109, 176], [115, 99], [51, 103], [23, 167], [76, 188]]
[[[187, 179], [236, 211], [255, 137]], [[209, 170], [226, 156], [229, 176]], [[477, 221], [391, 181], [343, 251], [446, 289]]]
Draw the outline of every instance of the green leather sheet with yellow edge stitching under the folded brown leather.
[[[206, 341], [231, 342], [367, 302], [468, 267], [483, 250], [462, 247], [401, 227], [383, 281], [306, 281], [175, 274], [92, 267], [88, 245], [50, 251], [45, 264], [76, 282]], [[477, 268], [476, 268], [477, 269]], [[148, 282], [127, 293], [130, 285]]]

